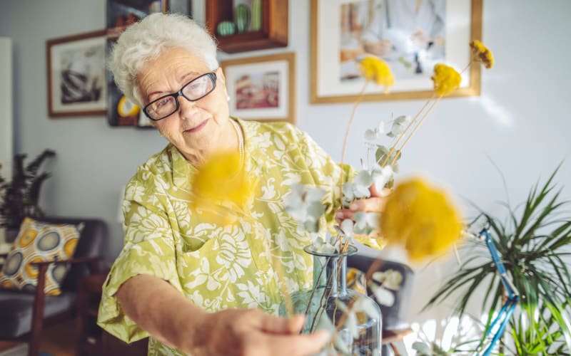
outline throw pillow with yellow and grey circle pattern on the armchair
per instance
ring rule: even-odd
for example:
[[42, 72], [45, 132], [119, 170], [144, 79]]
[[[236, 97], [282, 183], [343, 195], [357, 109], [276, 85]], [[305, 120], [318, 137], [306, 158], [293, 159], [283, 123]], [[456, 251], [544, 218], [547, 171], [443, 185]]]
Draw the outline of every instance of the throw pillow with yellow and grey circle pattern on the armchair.
[[[83, 224], [49, 224], [26, 218], [0, 272], [0, 288], [33, 292], [39, 268], [33, 262], [65, 260], [74, 256]], [[46, 295], [59, 295], [69, 266], [51, 264], [46, 271]]]

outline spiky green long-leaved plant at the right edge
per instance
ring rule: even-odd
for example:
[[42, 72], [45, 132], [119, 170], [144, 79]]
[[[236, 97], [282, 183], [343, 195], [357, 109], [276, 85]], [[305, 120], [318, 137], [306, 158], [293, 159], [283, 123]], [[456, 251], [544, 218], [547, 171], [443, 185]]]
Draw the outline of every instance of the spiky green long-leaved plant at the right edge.
[[[571, 216], [566, 209], [569, 201], [560, 199], [561, 189], [554, 183], [557, 170], [545, 184], [540, 186], [537, 182], [532, 187], [524, 204], [517, 208], [503, 204], [507, 209], [506, 222], [477, 208], [479, 216], [487, 219], [507, 278], [520, 297], [516, 313], [505, 330], [509, 342], [502, 342], [510, 355], [570, 355], [571, 352]], [[487, 332], [503, 303], [504, 287], [482, 241], [468, 241], [461, 250], [467, 251], [467, 257], [425, 308], [460, 291], [455, 313], [461, 316], [475, 290], [484, 287], [482, 310], [490, 308], [485, 324]]]

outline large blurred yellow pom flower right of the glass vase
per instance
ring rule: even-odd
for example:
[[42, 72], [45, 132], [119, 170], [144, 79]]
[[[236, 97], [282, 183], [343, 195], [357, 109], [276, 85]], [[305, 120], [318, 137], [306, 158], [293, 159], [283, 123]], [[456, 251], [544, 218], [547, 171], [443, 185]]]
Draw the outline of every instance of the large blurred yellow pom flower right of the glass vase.
[[422, 179], [398, 184], [380, 215], [388, 244], [401, 244], [414, 261], [442, 253], [460, 238], [460, 213], [445, 192]]

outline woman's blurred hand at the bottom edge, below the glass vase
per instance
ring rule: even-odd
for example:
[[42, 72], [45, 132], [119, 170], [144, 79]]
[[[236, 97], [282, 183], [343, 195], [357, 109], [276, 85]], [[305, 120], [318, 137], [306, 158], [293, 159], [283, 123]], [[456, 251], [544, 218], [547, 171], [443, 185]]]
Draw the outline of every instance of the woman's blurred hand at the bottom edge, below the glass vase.
[[280, 318], [256, 309], [208, 313], [194, 335], [197, 337], [190, 338], [193, 345], [182, 351], [193, 356], [312, 355], [323, 348], [330, 335], [325, 330], [299, 335], [304, 323], [303, 315]]

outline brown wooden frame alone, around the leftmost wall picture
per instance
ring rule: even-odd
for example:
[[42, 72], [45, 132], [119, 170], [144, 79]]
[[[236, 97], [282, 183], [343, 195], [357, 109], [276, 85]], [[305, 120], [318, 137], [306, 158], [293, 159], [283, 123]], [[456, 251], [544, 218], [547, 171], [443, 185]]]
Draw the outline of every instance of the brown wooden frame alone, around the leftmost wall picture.
[[[106, 115], [106, 108], [103, 110], [76, 110], [76, 111], [65, 111], [57, 112], [54, 110], [53, 105], [53, 93], [51, 92], [51, 48], [57, 46], [61, 43], [68, 43], [74, 41], [81, 41], [87, 38], [96, 38], [100, 36], [106, 36], [106, 30], [91, 31], [86, 33], [79, 33], [74, 36], [66, 36], [60, 38], [53, 38], [46, 41], [46, 62], [47, 62], [47, 85], [48, 85], [48, 113], [50, 117], [70, 117], [70, 116], [88, 116], [88, 115]], [[105, 66], [105, 63], [101, 63], [101, 66]], [[103, 78], [105, 80], [105, 78]], [[106, 86], [106, 83], [103, 83]], [[106, 99], [106, 98], [105, 98]]]

